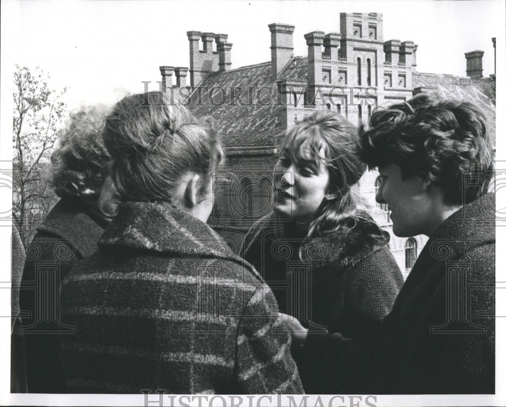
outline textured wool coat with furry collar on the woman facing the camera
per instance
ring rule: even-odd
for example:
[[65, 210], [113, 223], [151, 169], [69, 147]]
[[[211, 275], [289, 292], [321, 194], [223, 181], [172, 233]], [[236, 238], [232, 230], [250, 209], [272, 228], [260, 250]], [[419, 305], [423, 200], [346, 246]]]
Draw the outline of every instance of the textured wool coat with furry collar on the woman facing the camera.
[[[298, 293], [289, 299], [286, 289], [276, 290], [275, 287], [280, 281], [293, 278], [292, 273], [287, 273], [291, 264], [296, 267], [298, 261], [311, 264], [311, 285], [307, 288], [311, 301], [307, 306], [313, 325], [301, 321], [310, 330], [315, 331], [318, 325], [326, 329], [324, 332], [346, 336], [377, 334], [399, 293], [403, 278], [388, 249], [390, 236], [365, 212], [360, 214], [364, 219], [356, 224], [350, 219], [342, 229], [302, 243], [302, 250], [299, 250], [301, 239], [288, 237], [290, 225], [285, 222], [282, 226], [273, 217], [259, 221], [245, 238], [245, 259], [254, 264], [274, 288], [283, 312], [290, 314], [290, 303], [307, 299], [308, 294]], [[284, 228], [284, 233], [280, 233], [280, 227]], [[280, 245], [290, 246], [290, 258], [279, 259]], [[299, 252], [302, 259], [298, 257]], [[311, 354], [310, 343], [305, 346], [305, 352]], [[359, 383], [353, 382], [336, 389], [324, 370], [313, 369], [302, 359], [297, 363], [307, 393], [330, 393], [331, 388], [337, 393], [352, 393], [358, 389], [355, 384]]]

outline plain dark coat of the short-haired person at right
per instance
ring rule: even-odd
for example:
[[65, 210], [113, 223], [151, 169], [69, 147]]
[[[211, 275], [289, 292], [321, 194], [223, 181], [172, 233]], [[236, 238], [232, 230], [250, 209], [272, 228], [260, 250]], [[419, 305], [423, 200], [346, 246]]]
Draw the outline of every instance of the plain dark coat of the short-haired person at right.
[[298, 357], [323, 369], [338, 388], [340, 381], [364, 383], [371, 372], [366, 392], [494, 393], [494, 213], [495, 197], [488, 194], [436, 230], [385, 317], [370, 357], [360, 341], [339, 334], [309, 335], [307, 345], [318, 354], [304, 346]]

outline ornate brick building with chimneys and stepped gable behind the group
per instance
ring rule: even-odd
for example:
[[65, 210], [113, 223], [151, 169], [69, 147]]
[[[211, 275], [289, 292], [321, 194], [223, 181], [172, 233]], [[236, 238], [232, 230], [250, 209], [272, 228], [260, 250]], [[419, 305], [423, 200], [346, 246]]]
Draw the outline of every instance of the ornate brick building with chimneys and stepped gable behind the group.
[[[217, 120], [229, 162], [217, 177], [209, 223], [233, 240], [236, 250], [249, 226], [272, 211], [271, 178], [279, 136], [317, 109], [334, 109], [358, 125], [378, 105], [438, 91], [480, 105], [490, 116], [495, 140], [495, 75], [482, 76], [483, 51], [465, 54], [468, 77], [464, 78], [417, 72], [417, 45], [409, 40], [384, 41], [380, 13], [341, 13], [340, 33], [306, 34], [307, 57], [293, 55], [293, 25], [274, 23], [268, 28], [271, 61], [231, 69], [228, 35], [188, 31], [189, 69], [160, 67], [166, 92], [195, 114]], [[387, 208], [374, 200], [376, 181], [377, 173], [366, 172], [359, 188], [371, 215], [389, 230], [392, 253], [407, 275], [427, 238], [399, 238], [392, 233]]]

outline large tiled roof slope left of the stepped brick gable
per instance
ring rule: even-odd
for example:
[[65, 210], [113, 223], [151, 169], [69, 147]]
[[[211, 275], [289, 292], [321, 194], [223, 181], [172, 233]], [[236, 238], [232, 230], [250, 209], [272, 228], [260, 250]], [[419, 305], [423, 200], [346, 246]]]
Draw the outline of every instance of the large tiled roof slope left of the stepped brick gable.
[[[222, 72], [212, 72], [199, 85], [202, 88], [201, 99], [194, 92], [188, 106], [197, 115], [212, 116], [218, 124], [226, 147], [262, 147], [273, 146], [274, 138], [284, 129], [281, 124], [281, 108], [277, 101], [277, 88], [271, 76], [271, 63], [243, 66]], [[223, 103], [223, 91], [227, 100]], [[252, 101], [248, 89], [252, 91]], [[216, 89], [211, 91], [212, 89]], [[230, 95], [235, 97], [233, 104]], [[263, 89], [263, 90], [262, 90]], [[262, 90], [258, 94], [259, 90]], [[209, 101], [209, 93], [214, 101]]]

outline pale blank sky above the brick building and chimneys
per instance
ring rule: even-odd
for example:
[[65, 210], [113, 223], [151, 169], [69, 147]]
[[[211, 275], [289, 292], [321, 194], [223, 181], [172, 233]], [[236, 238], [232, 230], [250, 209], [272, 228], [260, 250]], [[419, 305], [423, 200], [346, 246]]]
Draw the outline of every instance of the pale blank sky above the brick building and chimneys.
[[[160, 65], [189, 66], [186, 31], [225, 33], [232, 68], [270, 60], [273, 22], [296, 26], [294, 54], [307, 55], [304, 34], [339, 32], [340, 12], [382, 12], [384, 40], [418, 45], [419, 72], [466, 76], [465, 52], [482, 50], [494, 73], [491, 38], [504, 35], [500, 1], [18, 1], [2, 2], [2, 69], [40, 66], [54, 89], [68, 87], [69, 109], [114, 103], [125, 91], [160, 80]], [[7, 57], [6, 57], [7, 55]]]

